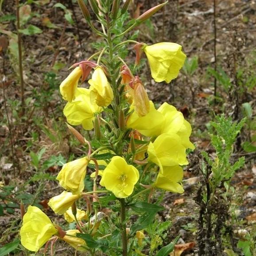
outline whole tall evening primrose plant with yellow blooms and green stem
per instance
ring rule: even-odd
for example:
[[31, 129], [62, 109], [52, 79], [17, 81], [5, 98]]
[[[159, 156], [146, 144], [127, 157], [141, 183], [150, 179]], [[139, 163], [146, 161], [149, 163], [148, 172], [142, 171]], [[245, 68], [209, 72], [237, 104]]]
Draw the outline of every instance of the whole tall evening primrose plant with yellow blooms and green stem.
[[[80, 158], [63, 165], [57, 176], [63, 192], [48, 203], [67, 223], [75, 222], [76, 229], [63, 230], [39, 208], [29, 206], [23, 216], [21, 243], [33, 252], [44, 245], [46, 252], [50, 244], [53, 248], [57, 240], [64, 240], [76, 251], [91, 256], [167, 256], [177, 239], [164, 247], [162, 242], [155, 246], [148, 230], [157, 222], [156, 213], [163, 210], [159, 206], [163, 193], [184, 191], [182, 166], [188, 164], [186, 150], [194, 149], [191, 126], [169, 103], [155, 108], [137, 67], [145, 56], [152, 78], [169, 83], [177, 78], [186, 55], [177, 43], [149, 46], [125, 40], [133, 27], [167, 2], [119, 29], [116, 24], [127, 16], [131, 0], [124, 4], [119, 0], [88, 2], [101, 23], [101, 31], [94, 27], [89, 6], [78, 0], [89, 26], [102, 37], [103, 47], [71, 66], [60, 85], [66, 101], [63, 113], [67, 126], [85, 151]], [[134, 44], [136, 52], [132, 70], [120, 54], [128, 44]], [[93, 130], [93, 138], [86, 140], [71, 125]]]

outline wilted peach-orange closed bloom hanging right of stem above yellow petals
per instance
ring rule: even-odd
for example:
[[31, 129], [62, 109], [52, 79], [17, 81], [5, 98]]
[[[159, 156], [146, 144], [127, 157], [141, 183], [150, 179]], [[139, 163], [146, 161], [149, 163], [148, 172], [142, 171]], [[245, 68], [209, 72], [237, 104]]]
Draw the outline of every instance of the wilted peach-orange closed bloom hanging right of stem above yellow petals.
[[138, 116], [146, 116], [150, 109], [147, 92], [138, 77], [135, 78], [133, 104]]

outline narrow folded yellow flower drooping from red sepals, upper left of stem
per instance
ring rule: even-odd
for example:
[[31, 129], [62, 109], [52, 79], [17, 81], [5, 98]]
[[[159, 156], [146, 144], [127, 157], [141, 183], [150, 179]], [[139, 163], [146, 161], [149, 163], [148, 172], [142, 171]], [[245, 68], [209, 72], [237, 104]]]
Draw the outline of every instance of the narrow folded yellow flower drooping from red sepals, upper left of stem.
[[68, 77], [62, 81], [59, 86], [60, 93], [65, 101], [73, 101], [75, 93], [78, 88], [78, 81], [81, 78], [82, 70], [78, 66], [68, 75]]

